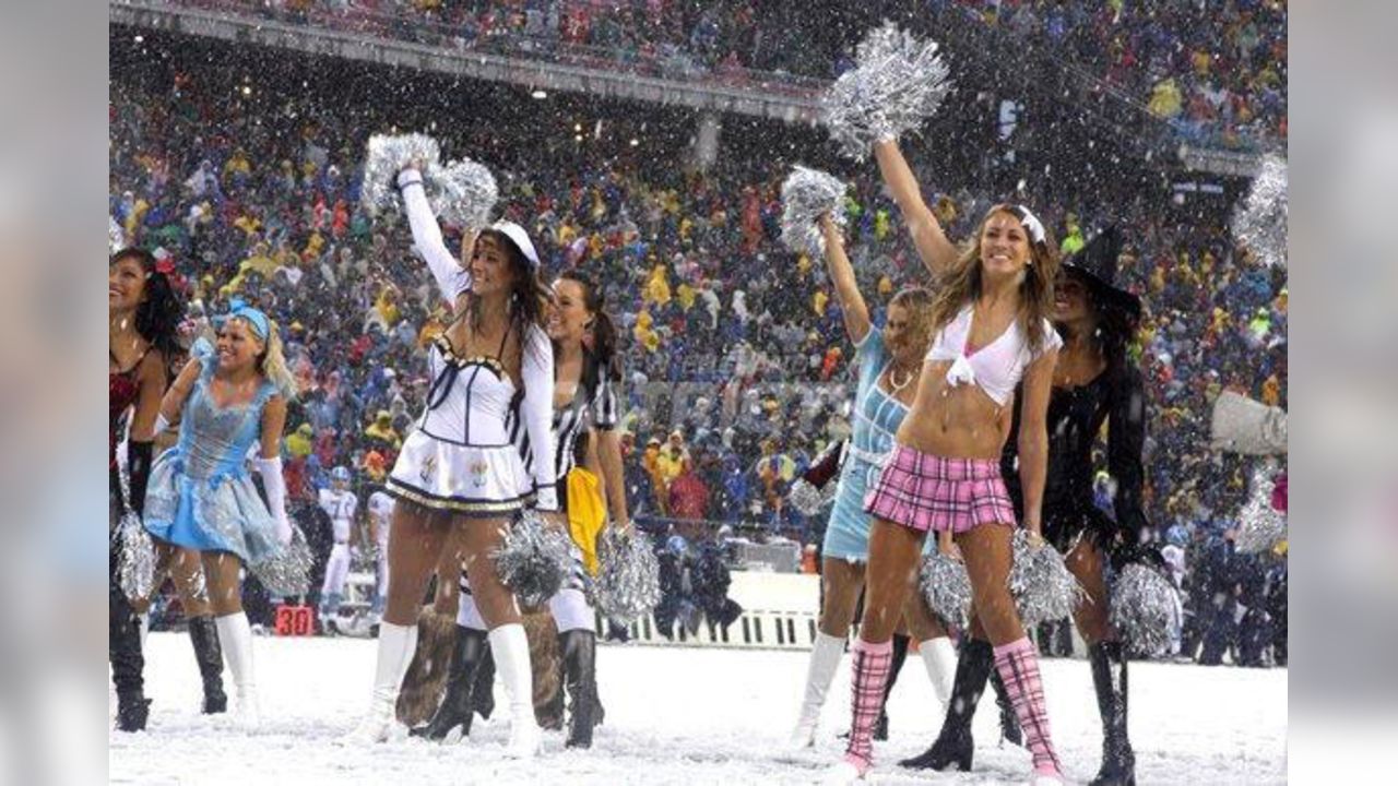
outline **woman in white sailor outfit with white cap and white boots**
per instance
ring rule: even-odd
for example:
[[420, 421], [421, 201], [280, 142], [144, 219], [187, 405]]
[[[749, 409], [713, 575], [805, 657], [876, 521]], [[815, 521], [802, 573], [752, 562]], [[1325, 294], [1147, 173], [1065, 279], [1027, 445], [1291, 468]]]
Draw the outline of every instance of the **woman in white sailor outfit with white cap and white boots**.
[[512, 757], [533, 757], [540, 729], [531, 702], [528, 642], [520, 611], [495, 571], [491, 552], [510, 519], [527, 505], [558, 512], [551, 462], [527, 471], [512, 442], [523, 428], [541, 455], [552, 455], [549, 410], [554, 351], [542, 327], [545, 292], [538, 253], [517, 224], [496, 222], [467, 235], [457, 264], [442, 239], [415, 168], [398, 175], [412, 239], [456, 319], [432, 343], [432, 383], [418, 428], [408, 435], [387, 480], [396, 498], [389, 536], [389, 603], [369, 710], [350, 741], [376, 743], [394, 731], [394, 703], [417, 645], [418, 604], [443, 547], [460, 545], [475, 601], [510, 702]]

